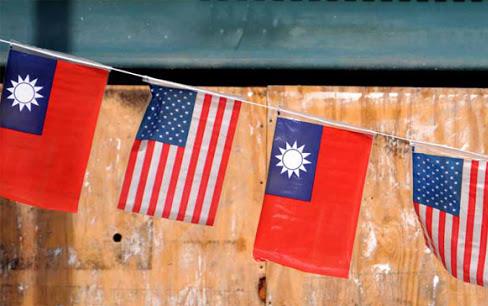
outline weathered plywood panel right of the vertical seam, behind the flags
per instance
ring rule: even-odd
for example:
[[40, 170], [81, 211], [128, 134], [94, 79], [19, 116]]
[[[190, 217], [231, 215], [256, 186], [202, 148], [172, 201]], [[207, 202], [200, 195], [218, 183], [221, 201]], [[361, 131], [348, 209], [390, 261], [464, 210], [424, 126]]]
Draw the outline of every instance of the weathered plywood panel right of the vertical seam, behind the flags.
[[[488, 91], [268, 88], [268, 103], [401, 136], [488, 152]], [[274, 120], [275, 114], [269, 115]], [[271, 143], [273, 125], [268, 126]], [[268, 152], [269, 152], [268, 146]], [[411, 204], [410, 148], [376, 137], [349, 280], [267, 265], [268, 305], [483, 305], [488, 292], [449, 276], [424, 245]]]

